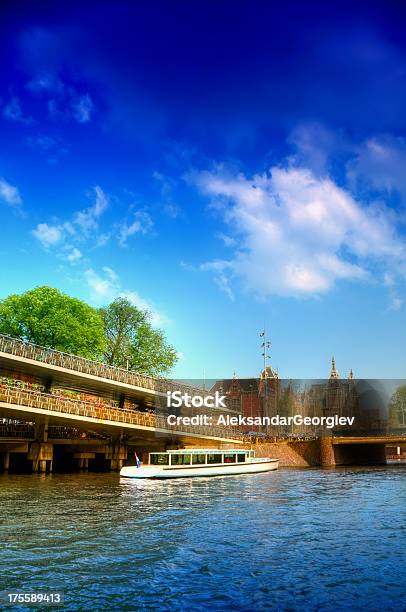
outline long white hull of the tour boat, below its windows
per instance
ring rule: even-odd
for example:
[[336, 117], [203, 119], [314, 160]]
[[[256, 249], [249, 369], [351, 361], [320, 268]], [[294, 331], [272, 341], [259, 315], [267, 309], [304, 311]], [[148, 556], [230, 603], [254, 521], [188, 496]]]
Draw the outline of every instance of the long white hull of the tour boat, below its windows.
[[123, 467], [120, 476], [124, 478], [191, 478], [196, 476], [235, 476], [237, 474], [258, 474], [277, 470], [278, 459], [256, 459], [246, 463], [224, 463], [221, 465], [155, 466], [146, 465]]

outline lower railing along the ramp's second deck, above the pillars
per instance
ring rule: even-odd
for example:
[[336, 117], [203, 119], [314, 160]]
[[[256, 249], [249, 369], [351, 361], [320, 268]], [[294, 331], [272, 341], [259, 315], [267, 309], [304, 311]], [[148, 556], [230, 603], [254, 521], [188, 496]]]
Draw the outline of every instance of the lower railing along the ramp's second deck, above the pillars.
[[16, 404], [29, 408], [49, 410], [60, 414], [70, 414], [85, 418], [93, 418], [100, 421], [110, 421], [115, 423], [139, 425], [150, 427], [156, 430], [170, 430], [173, 432], [185, 432], [205, 436], [215, 436], [219, 438], [237, 437], [237, 430], [233, 427], [206, 427], [182, 425], [181, 429], [174, 425], [168, 425], [164, 416], [153, 413], [138, 412], [125, 408], [114, 408], [112, 406], [95, 405], [85, 400], [73, 400], [70, 398], [55, 397], [52, 394], [41, 393], [18, 387], [1, 387], [0, 402]]

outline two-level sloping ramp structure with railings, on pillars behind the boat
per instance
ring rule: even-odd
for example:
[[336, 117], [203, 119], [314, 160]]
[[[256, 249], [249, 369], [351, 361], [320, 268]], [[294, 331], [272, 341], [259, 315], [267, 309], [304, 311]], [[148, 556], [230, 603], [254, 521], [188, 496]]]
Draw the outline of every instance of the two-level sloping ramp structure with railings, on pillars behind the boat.
[[[39, 391], [0, 384], [0, 415], [35, 423], [33, 438], [24, 443], [27, 447], [19, 438], [3, 438], [0, 442], [5, 469], [8, 469], [10, 453], [24, 452], [21, 449], [27, 448], [34, 470], [52, 470], [54, 446], [61, 442], [50, 438], [49, 428], [58, 426], [67, 431], [73, 428], [99, 434], [104, 438], [104, 446], [110, 440], [107, 455], [113, 469], [121, 467], [129, 447], [136, 446], [142, 452], [168, 446], [243, 442], [235, 428], [192, 425], [179, 428], [168, 425], [162, 414], [154, 412], [153, 408], [166, 399], [168, 390], [191, 395], [203, 393], [189, 385], [115, 368], [4, 335], [0, 335], [0, 368], [3, 372], [12, 372], [15, 379], [28, 377], [41, 381], [43, 386], [43, 391]], [[94, 394], [95, 398], [89, 401], [58, 396], [52, 392], [58, 387], [76, 394], [86, 393], [87, 397]], [[128, 403], [130, 408], [125, 406]], [[82, 450], [84, 445], [89, 445], [88, 440], [85, 442], [80, 437], [74, 442], [69, 440], [69, 445], [73, 444], [80, 447], [75, 451], [75, 458], [94, 459], [92, 453], [96, 451]], [[91, 444], [97, 445], [94, 440]]]

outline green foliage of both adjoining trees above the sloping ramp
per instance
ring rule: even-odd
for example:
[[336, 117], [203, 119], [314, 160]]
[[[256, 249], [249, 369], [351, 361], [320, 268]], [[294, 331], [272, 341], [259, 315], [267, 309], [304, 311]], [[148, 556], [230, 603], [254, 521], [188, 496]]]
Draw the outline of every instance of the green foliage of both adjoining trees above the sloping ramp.
[[150, 314], [117, 298], [96, 310], [52, 287], [0, 301], [0, 333], [137, 372], [167, 374], [177, 361]]

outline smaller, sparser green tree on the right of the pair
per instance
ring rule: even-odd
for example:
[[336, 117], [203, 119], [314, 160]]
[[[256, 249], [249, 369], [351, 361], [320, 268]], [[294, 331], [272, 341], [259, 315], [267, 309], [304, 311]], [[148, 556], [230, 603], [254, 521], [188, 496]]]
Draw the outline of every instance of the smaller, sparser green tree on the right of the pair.
[[167, 374], [175, 365], [175, 349], [161, 330], [152, 327], [147, 310], [138, 309], [126, 298], [117, 298], [101, 308], [100, 314], [107, 339], [106, 363], [155, 376]]

